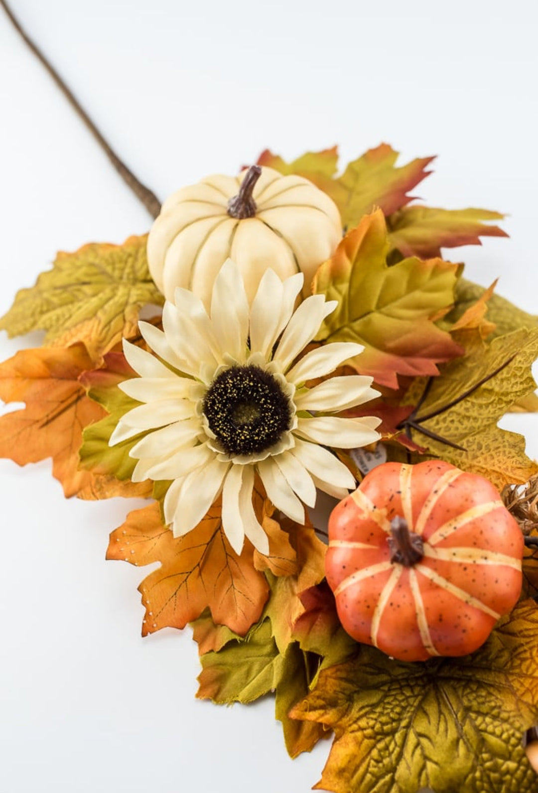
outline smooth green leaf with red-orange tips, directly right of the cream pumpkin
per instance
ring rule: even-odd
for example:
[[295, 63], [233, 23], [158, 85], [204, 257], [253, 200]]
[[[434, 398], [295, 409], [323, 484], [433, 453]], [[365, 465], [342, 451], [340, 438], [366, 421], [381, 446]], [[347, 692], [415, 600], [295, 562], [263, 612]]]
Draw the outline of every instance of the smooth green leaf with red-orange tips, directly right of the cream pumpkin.
[[436, 363], [463, 353], [433, 321], [454, 302], [459, 266], [413, 258], [389, 267], [387, 252], [385, 219], [377, 210], [320, 266], [313, 292], [338, 301], [317, 340], [363, 344], [353, 366], [396, 389], [397, 374], [438, 374]]

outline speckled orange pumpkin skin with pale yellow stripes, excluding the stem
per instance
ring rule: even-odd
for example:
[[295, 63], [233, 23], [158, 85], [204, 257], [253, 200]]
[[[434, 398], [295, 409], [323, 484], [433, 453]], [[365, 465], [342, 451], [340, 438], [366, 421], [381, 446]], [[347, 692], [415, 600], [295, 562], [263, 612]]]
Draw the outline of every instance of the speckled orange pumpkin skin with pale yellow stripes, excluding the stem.
[[[425, 555], [390, 561], [403, 517]], [[486, 641], [521, 592], [521, 529], [489, 481], [441, 461], [387, 462], [329, 519], [326, 573], [353, 638], [402, 661], [459, 656]]]

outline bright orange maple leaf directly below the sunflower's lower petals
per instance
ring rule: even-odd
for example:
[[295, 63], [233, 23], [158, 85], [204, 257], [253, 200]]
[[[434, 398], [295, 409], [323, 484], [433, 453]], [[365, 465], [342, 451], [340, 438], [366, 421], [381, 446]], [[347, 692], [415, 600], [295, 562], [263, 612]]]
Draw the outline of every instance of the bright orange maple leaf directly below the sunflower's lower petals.
[[163, 526], [159, 504], [129, 512], [110, 534], [107, 559], [160, 567], [139, 586], [146, 609], [142, 635], [164, 627], [183, 628], [209, 607], [215, 623], [244, 635], [259, 620], [269, 594], [267, 581], [252, 565], [246, 541], [238, 556], [221, 527], [216, 502], [198, 526], [175, 538]]

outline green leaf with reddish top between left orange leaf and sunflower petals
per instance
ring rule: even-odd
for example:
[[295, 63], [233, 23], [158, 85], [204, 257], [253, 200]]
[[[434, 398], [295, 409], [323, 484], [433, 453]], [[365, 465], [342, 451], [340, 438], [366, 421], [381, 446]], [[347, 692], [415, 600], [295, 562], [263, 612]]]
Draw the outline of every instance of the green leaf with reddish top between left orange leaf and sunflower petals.
[[[80, 466], [95, 473], [113, 475], [121, 481], [128, 480], [133, 473], [136, 460], [129, 457], [129, 451], [140, 437], [136, 435], [115, 446], [109, 446], [109, 440], [121, 416], [140, 404], [117, 388], [118, 383], [130, 377], [136, 377], [136, 372], [121, 352], [106, 354], [101, 369], [86, 372], [80, 377], [88, 397], [104, 408], [101, 416], [105, 416], [84, 430], [79, 452]], [[152, 485], [146, 483], [144, 487], [148, 493], [152, 492]]]

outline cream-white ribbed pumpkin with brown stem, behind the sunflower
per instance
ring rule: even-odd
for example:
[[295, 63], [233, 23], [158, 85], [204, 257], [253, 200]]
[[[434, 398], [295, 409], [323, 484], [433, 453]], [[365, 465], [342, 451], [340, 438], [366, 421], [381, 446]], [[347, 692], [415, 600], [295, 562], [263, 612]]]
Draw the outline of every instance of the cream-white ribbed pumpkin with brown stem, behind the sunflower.
[[228, 258], [243, 274], [249, 301], [269, 267], [282, 279], [302, 271], [307, 293], [341, 237], [335, 203], [312, 182], [252, 166], [238, 177], [208, 176], [163, 203], [148, 238], [149, 270], [168, 300], [183, 286], [207, 308]]

